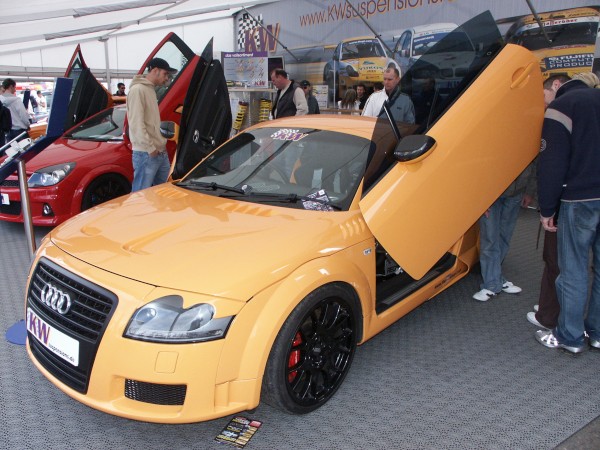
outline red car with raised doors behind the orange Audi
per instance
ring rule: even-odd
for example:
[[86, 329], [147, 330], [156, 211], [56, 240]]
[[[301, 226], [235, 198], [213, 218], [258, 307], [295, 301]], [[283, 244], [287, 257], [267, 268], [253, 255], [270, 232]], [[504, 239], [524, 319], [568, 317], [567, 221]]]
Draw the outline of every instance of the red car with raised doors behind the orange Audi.
[[[211, 53], [210, 58], [201, 59], [177, 35], [169, 33], [144, 62], [140, 74], [154, 57], [178, 70], [170, 83], [157, 87], [162, 120], [180, 123], [184, 98], [198, 62], [202, 60], [205, 65], [212, 60], [212, 41], [205, 52]], [[131, 191], [133, 167], [131, 143], [124, 133], [125, 106], [111, 106], [110, 94], [91, 75], [79, 48], [67, 75], [74, 78], [75, 86], [68, 107], [69, 129], [26, 166], [34, 225], [58, 225]], [[214, 148], [211, 140], [200, 142], [209, 147], [202, 153]], [[175, 143], [169, 141], [167, 150], [172, 158]], [[0, 200], [0, 220], [23, 221], [16, 173], [0, 183]]]

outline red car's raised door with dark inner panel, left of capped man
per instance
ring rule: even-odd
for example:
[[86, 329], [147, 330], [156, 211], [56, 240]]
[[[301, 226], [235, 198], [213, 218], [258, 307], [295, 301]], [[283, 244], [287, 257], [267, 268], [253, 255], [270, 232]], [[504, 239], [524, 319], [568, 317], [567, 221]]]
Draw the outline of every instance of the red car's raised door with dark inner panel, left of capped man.
[[65, 78], [73, 80], [65, 130], [112, 106], [112, 96], [92, 75], [92, 71], [85, 64], [79, 45], [71, 57]]

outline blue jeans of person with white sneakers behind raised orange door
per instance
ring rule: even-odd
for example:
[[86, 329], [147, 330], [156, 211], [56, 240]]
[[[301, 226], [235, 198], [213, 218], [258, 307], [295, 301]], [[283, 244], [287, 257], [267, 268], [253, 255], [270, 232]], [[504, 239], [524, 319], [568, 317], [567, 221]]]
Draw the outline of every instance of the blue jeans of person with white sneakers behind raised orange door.
[[479, 263], [483, 278], [480, 289], [497, 294], [506, 282], [502, 261], [508, 253], [522, 199], [522, 194], [500, 197], [490, 207], [489, 216], [479, 219]]

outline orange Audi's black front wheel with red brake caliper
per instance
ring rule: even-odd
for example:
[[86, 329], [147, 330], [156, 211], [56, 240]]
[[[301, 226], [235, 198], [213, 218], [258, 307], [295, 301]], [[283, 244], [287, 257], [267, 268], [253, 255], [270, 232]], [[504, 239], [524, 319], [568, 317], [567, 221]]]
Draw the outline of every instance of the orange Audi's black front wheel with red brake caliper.
[[267, 362], [262, 400], [292, 414], [311, 412], [340, 387], [358, 340], [356, 302], [339, 285], [309, 294], [281, 328]]

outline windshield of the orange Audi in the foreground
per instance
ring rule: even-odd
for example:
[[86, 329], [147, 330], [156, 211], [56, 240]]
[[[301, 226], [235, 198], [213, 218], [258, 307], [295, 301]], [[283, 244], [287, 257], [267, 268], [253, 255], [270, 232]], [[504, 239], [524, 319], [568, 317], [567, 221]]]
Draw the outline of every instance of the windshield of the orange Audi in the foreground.
[[239, 134], [178, 184], [255, 203], [347, 210], [370, 148], [367, 139], [332, 131], [262, 128]]

